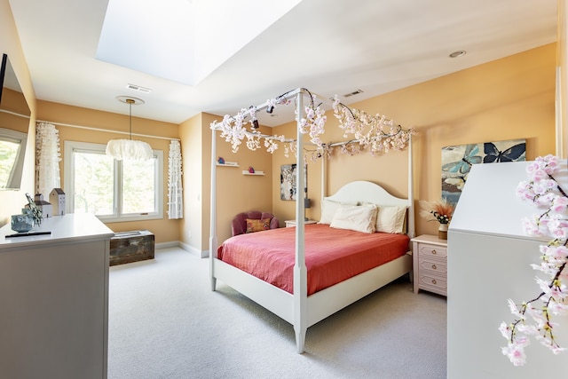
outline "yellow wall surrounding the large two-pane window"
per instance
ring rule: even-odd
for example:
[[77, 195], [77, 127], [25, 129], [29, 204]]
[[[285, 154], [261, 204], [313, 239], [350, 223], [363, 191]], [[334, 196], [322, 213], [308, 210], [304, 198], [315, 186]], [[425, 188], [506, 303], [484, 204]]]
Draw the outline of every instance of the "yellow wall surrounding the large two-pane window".
[[[125, 107], [128, 107], [125, 105]], [[134, 111], [135, 112], [135, 111]], [[134, 113], [133, 112], [133, 113]], [[65, 141], [90, 142], [95, 144], [106, 144], [113, 138], [128, 138], [128, 135], [105, 132], [98, 130], [83, 130], [61, 124], [86, 126], [96, 129], [129, 131], [128, 114], [113, 114], [101, 112], [82, 107], [71, 107], [48, 101], [37, 101], [37, 119], [52, 122], [59, 130], [59, 144], [61, 146], [61, 162], [59, 171], [61, 187], [65, 188]], [[132, 117], [133, 133], [146, 134], [164, 138], [178, 138], [177, 125], [168, 122], [158, 122], [143, 118]], [[164, 214], [162, 219], [130, 221], [120, 223], [107, 223], [106, 225], [114, 232], [126, 232], [131, 230], [147, 229], [154, 233], [156, 243], [177, 241], [179, 220], [170, 220], [166, 211], [168, 210], [168, 153], [170, 150], [170, 140], [162, 138], [135, 137], [150, 144], [156, 150], [163, 152], [163, 206]], [[183, 152], [182, 152], [183, 154]]]

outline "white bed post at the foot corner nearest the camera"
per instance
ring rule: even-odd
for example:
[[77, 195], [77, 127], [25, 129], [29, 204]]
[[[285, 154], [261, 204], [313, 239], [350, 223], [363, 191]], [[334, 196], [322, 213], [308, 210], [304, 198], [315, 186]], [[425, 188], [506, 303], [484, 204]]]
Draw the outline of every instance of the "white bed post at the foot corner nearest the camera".
[[[296, 188], [304, 188], [304, 148], [300, 120], [304, 114], [304, 91], [296, 95], [297, 128], [296, 128]], [[304, 251], [304, 198], [296, 191], [296, 264], [294, 265], [294, 331], [296, 333], [296, 351], [304, 352], [305, 334], [307, 330], [307, 270]]]

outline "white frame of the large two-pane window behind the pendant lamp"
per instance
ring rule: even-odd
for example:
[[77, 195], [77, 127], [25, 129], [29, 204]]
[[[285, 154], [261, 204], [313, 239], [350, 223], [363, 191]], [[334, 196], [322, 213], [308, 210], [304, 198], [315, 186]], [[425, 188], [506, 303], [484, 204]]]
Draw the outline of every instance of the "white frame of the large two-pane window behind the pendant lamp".
[[[86, 152], [86, 153], [102, 153], [105, 154], [106, 145], [102, 144], [92, 144], [88, 142], [77, 142], [77, 141], [65, 141], [64, 144], [64, 188], [63, 191], [67, 194], [67, 206], [66, 212], [71, 213], [75, 208], [74, 204], [74, 184], [75, 184], [75, 162], [73, 159], [73, 153], [76, 152]], [[121, 209], [122, 202], [122, 162], [114, 160], [114, 175], [115, 175], [115, 186], [114, 186], [114, 214], [97, 216], [103, 222], [114, 223], [114, 222], [125, 222], [125, 221], [143, 221], [143, 220], [154, 220], [163, 218], [163, 152], [162, 150], [153, 150], [154, 158], [156, 158], [155, 172], [157, 173], [155, 179], [154, 193], [154, 203], [156, 204], [156, 209], [154, 212], [141, 213], [141, 214], [120, 214], [119, 209]]]

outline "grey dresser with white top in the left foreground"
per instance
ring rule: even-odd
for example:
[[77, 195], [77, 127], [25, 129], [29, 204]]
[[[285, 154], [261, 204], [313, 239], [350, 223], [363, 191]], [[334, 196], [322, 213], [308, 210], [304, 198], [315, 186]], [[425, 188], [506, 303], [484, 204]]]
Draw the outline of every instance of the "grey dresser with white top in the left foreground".
[[108, 252], [92, 215], [49, 217], [32, 232], [0, 229], [0, 370], [6, 378], [106, 378]]

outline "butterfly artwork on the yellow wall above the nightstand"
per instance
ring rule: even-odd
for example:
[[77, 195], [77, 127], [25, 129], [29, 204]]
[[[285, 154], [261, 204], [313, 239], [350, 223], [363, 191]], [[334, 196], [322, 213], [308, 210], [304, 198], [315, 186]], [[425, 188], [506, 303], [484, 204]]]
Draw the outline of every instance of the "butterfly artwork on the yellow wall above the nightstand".
[[457, 204], [474, 164], [525, 160], [525, 139], [442, 147], [442, 197]]

